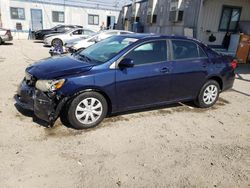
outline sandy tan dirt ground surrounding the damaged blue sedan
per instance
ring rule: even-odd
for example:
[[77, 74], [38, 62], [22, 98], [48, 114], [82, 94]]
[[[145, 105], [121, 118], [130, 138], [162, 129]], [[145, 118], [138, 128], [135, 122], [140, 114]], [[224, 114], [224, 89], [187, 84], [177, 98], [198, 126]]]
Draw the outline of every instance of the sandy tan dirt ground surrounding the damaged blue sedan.
[[13, 96], [34, 41], [0, 46], [0, 187], [250, 187], [250, 66], [207, 110], [175, 104], [77, 131], [33, 122]]

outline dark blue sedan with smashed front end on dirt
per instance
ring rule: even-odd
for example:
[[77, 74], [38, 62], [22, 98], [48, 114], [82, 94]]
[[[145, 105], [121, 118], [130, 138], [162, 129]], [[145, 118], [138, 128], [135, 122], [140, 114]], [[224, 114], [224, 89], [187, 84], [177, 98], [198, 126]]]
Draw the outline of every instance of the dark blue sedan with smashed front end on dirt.
[[156, 105], [211, 107], [233, 86], [236, 63], [185, 37], [113, 36], [31, 65], [15, 99], [50, 125], [60, 116], [76, 129], [90, 128], [109, 114]]

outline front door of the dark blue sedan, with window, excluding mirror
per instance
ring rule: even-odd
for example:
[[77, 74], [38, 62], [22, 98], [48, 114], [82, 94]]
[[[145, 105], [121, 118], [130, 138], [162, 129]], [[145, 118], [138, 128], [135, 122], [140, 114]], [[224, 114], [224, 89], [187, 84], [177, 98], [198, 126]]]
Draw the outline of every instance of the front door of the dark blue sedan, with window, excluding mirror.
[[167, 101], [170, 65], [167, 62], [166, 40], [143, 43], [125, 58], [132, 59], [134, 67], [116, 70], [118, 108], [133, 109]]

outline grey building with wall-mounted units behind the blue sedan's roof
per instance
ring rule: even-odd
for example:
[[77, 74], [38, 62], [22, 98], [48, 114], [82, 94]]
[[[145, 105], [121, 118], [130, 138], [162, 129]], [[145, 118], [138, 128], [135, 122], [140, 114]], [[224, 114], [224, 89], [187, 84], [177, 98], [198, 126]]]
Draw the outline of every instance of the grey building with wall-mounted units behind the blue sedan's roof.
[[221, 45], [226, 32], [250, 25], [250, 0], [141, 0], [122, 8], [118, 28], [187, 35]]

